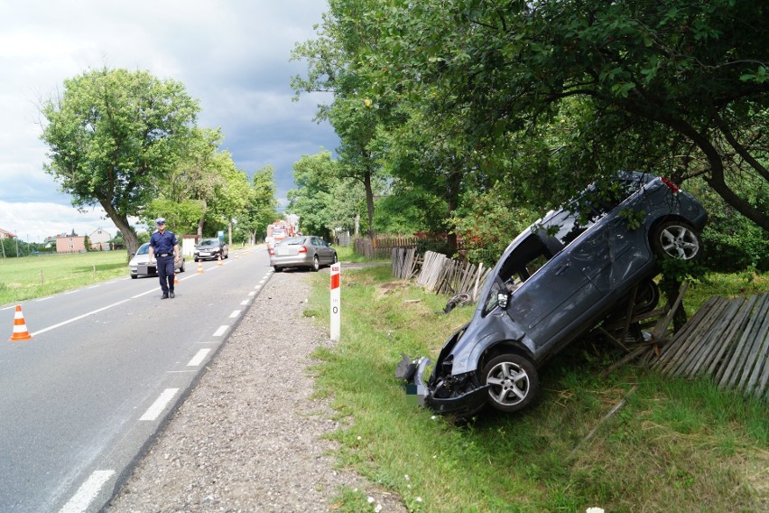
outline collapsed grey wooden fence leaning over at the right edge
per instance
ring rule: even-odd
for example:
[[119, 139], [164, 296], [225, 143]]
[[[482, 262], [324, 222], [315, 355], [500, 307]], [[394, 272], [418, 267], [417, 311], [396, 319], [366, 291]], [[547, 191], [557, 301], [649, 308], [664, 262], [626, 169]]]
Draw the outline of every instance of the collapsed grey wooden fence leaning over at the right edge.
[[652, 365], [663, 374], [707, 374], [721, 388], [769, 396], [769, 294], [711, 297]]

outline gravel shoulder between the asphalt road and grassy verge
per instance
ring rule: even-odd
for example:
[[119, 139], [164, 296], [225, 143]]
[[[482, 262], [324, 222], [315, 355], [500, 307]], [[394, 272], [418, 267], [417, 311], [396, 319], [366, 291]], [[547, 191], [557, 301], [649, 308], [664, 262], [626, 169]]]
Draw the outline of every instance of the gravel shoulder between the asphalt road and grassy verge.
[[332, 342], [304, 317], [309, 276], [272, 275], [106, 511], [333, 511], [341, 487], [366, 493], [371, 511], [406, 511], [339, 471], [323, 438], [342, 426], [312, 397], [310, 353]]

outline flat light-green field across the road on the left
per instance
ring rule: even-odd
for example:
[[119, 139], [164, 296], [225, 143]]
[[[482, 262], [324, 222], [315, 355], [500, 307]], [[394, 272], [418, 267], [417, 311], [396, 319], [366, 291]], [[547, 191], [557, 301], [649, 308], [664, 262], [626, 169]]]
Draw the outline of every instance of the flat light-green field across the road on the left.
[[125, 251], [0, 259], [0, 306], [128, 275]]

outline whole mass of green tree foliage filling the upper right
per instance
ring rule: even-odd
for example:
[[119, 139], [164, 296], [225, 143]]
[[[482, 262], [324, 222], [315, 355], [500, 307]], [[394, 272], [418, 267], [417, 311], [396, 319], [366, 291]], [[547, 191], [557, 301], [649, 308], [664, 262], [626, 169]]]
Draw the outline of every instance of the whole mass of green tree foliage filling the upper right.
[[755, 201], [767, 182], [769, 35], [751, 22], [765, 18], [750, 0], [334, 0], [319, 38], [298, 47], [308, 78], [293, 85], [334, 93], [320, 116], [343, 121], [355, 150], [343, 159], [375, 158], [446, 201], [443, 219], [495, 182], [544, 210], [638, 169], [702, 176], [769, 229]]

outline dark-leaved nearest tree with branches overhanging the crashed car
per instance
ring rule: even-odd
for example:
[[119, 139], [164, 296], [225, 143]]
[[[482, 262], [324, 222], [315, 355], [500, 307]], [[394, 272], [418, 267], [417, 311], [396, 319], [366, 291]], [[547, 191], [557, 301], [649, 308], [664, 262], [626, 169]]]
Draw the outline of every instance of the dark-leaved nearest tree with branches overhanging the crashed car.
[[407, 98], [430, 98], [436, 119], [465, 113], [470, 148], [506, 152], [511, 134], [579, 98], [575, 129], [551, 148], [551, 181], [579, 188], [574, 173], [623, 164], [699, 175], [769, 229], [765, 2], [424, 0], [379, 14], [367, 19], [384, 24], [387, 48], [363, 58]]

